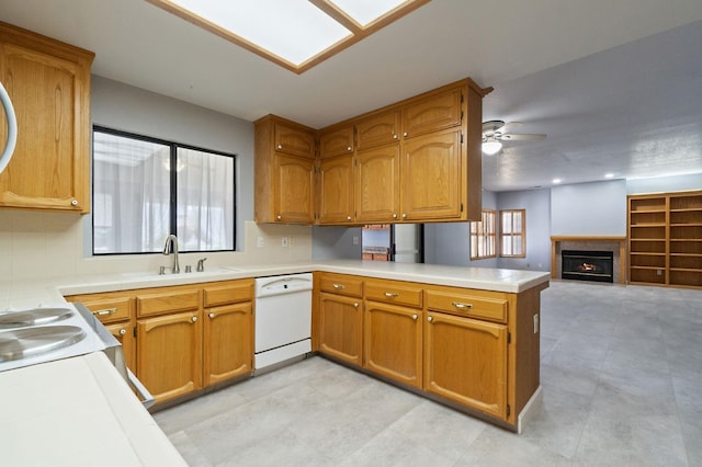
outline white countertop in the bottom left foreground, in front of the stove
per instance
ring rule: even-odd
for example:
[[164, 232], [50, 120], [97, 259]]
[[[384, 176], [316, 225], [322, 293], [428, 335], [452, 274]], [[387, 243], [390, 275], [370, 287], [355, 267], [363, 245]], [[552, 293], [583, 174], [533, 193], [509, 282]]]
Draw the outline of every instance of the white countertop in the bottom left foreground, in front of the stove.
[[102, 352], [0, 373], [7, 466], [186, 466]]

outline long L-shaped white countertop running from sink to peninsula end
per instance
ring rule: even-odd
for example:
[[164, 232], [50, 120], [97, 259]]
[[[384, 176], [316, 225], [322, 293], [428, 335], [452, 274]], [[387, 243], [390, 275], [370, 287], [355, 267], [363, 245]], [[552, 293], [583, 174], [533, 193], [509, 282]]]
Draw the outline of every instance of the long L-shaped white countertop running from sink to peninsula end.
[[226, 281], [299, 272], [326, 271], [424, 284], [450, 285], [484, 291], [520, 293], [546, 284], [550, 273], [542, 271], [461, 267], [439, 264], [410, 264], [385, 261], [336, 260], [315, 263], [233, 265], [205, 272], [158, 275], [132, 272], [90, 276], [54, 277], [45, 281], [0, 282], [0, 312], [37, 306], [59, 306], [65, 295], [125, 291], [200, 282]]

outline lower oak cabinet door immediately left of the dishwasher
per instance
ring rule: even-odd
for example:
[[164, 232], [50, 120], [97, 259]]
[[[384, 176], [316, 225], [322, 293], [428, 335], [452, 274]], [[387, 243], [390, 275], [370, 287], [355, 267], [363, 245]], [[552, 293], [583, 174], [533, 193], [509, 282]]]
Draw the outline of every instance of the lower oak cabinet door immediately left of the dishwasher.
[[253, 371], [251, 303], [205, 309], [204, 384], [214, 385]]

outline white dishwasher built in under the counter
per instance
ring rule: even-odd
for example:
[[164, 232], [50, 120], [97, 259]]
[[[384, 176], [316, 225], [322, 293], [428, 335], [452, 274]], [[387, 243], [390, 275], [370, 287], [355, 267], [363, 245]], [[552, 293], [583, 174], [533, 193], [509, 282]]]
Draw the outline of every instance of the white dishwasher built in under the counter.
[[312, 273], [256, 278], [254, 369], [312, 351]]

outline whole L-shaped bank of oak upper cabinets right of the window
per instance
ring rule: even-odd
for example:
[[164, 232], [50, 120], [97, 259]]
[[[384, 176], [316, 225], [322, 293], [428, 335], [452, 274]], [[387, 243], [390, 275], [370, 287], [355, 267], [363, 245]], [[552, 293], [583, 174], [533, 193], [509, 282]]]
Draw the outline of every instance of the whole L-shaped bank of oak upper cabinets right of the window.
[[[296, 170], [282, 169], [279, 158], [271, 157], [281, 149], [270, 132], [276, 128], [271, 122], [297, 124], [275, 116], [258, 121], [257, 221], [360, 225], [479, 219], [480, 125], [487, 92], [464, 79], [322, 128], [315, 133], [314, 164], [307, 152], [298, 153], [299, 160], [290, 161]], [[312, 129], [299, 128], [312, 135]], [[309, 197], [307, 175], [314, 175]]]

